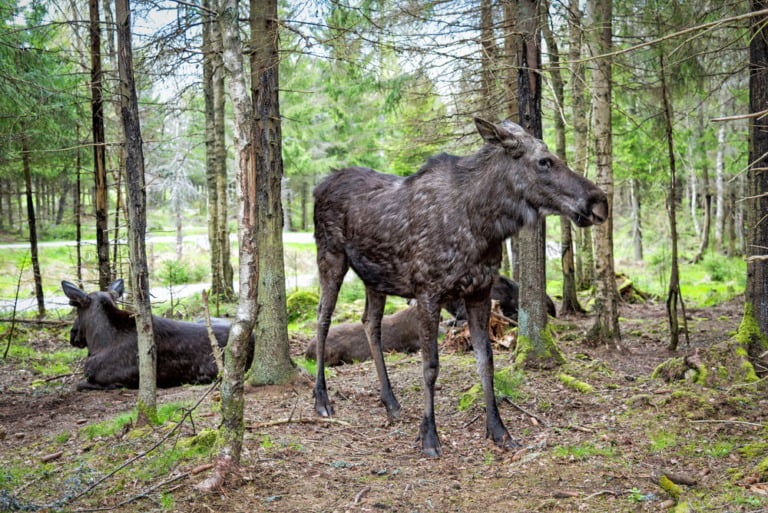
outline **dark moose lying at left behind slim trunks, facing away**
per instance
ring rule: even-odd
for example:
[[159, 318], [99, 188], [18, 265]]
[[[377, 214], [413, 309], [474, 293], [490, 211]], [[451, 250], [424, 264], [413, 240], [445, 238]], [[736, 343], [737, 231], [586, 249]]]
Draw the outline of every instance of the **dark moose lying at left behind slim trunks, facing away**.
[[[134, 314], [121, 310], [115, 300], [122, 296], [123, 280], [112, 282], [104, 292], [86, 294], [68, 281], [61, 282], [69, 304], [77, 308], [77, 318], [69, 342], [88, 347], [85, 380], [78, 390], [138, 388], [139, 349]], [[218, 375], [205, 324], [174, 321], [152, 316], [157, 351], [157, 386], [210, 383]], [[219, 347], [227, 345], [229, 324], [212, 322]], [[248, 364], [253, 360], [253, 335]]]

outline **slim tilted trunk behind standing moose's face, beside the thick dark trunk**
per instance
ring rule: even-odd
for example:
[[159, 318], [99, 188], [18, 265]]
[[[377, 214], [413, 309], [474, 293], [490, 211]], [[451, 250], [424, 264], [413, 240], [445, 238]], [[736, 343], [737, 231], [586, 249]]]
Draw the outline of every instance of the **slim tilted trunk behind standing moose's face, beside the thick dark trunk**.
[[[565, 155], [565, 85], [560, 73], [560, 51], [557, 46], [557, 39], [549, 27], [549, 1], [542, 2], [541, 5], [541, 26], [543, 28], [544, 39], [549, 48], [549, 61], [551, 63], [552, 89], [554, 90], [555, 104], [557, 112], [555, 114], [555, 153], [567, 161]], [[573, 262], [573, 235], [571, 232], [571, 221], [567, 216], [560, 216], [560, 264], [563, 271], [563, 302], [560, 306], [560, 313], [584, 313], [584, 309], [579, 304], [579, 298], [576, 296], [576, 275]]]

